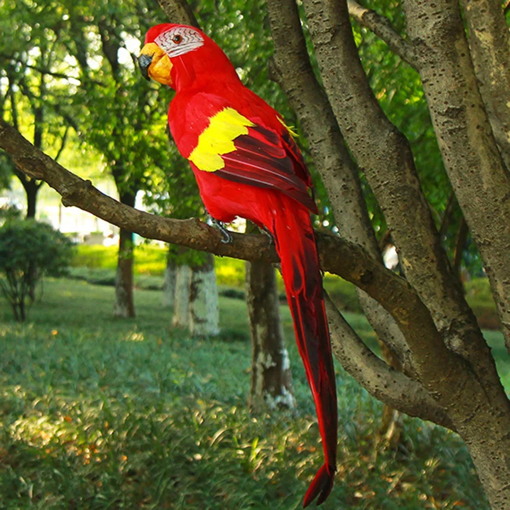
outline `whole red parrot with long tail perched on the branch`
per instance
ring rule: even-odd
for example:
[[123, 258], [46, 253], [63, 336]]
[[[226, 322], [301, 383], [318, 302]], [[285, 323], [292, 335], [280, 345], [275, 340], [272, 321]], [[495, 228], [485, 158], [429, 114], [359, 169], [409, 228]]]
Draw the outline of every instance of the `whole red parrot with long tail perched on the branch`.
[[240, 216], [274, 238], [325, 457], [303, 506], [317, 496], [320, 504], [336, 471], [337, 391], [310, 218], [318, 213], [308, 192], [310, 173], [282, 116], [241, 83], [221, 48], [200, 30], [152, 27], [138, 62], [147, 80], [176, 92], [170, 131], [212, 218], [231, 222]]

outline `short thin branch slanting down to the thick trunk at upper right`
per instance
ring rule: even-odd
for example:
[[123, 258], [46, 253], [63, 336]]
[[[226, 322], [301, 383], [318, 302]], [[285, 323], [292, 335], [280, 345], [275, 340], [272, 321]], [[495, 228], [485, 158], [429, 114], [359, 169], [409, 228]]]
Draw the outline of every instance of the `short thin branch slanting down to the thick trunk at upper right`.
[[372, 9], [362, 7], [354, 0], [347, 0], [347, 7], [354, 21], [373, 32], [388, 44], [393, 53], [405, 60], [411, 67], [418, 69], [414, 46], [395, 31], [389, 19]]

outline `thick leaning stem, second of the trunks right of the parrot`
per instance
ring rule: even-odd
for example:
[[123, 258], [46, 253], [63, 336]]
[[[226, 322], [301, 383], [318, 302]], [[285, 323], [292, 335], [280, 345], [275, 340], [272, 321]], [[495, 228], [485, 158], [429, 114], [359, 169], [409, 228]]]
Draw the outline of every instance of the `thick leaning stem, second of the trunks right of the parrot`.
[[346, 0], [304, 0], [303, 5], [331, 106], [385, 214], [406, 277], [427, 303], [448, 346], [477, 367], [477, 373], [485, 374], [492, 363], [490, 352], [451, 271], [409, 142], [386, 117], [370, 88]]

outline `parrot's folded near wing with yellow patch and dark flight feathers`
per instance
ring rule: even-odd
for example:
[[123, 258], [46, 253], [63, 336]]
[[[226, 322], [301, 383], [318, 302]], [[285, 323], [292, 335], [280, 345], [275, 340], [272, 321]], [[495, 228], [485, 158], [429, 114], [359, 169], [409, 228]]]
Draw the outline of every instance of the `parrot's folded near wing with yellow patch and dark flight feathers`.
[[[230, 181], [280, 191], [318, 214], [308, 193], [310, 174], [288, 128], [276, 112], [265, 105], [259, 116], [248, 118], [235, 108], [224, 106], [225, 102], [217, 96], [201, 96], [196, 94], [193, 104], [188, 104], [183, 112], [186, 124], [203, 124], [198, 138], [195, 134], [192, 140], [189, 131], [179, 136], [181, 133], [170, 121], [183, 156], [199, 170], [214, 172]], [[206, 110], [204, 99], [207, 99], [208, 109], [214, 108], [214, 113], [205, 119], [200, 118]], [[175, 113], [172, 112], [171, 117], [179, 118]], [[264, 125], [260, 113], [270, 117], [276, 129]], [[187, 147], [183, 147], [185, 144]]]

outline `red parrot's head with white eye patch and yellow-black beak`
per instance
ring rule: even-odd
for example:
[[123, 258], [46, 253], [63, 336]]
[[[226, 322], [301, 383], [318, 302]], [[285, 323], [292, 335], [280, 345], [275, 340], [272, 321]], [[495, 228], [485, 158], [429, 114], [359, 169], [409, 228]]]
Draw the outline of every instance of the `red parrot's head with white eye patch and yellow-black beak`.
[[145, 79], [175, 90], [210, 79], [238, 79], [221, 48], [201, 30], [188, 25], [162, 23], [150, 28], [138, 64]]

